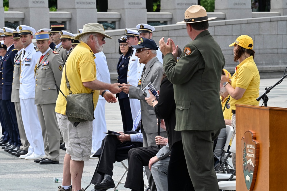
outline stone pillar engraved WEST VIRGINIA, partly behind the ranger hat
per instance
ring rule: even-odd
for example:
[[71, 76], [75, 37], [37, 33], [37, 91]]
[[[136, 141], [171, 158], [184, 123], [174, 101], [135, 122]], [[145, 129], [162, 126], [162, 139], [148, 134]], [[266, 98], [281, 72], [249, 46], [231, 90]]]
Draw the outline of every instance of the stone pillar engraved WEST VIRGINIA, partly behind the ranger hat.
[[197, 0], [161, 0], [160, 11], [172, 13], [171, 24], [184, 20], [184, 12], [191, 5], [197, 5]]

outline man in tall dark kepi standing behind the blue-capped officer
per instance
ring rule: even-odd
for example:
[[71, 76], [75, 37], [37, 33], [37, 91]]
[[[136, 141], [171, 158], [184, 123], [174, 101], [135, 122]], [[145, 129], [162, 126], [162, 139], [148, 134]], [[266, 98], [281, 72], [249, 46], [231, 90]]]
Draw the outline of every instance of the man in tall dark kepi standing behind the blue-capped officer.
[[53, 43], [56, 44], [56, 47], [53, 51], [56, 51], [59, 53], [59, 55], [62, 57], [63, 63], [67, 59], [67, 51], [63, 49], [61, 40], [59, 39], [61, 37], [60, 31], [64, 30], [64, 25], [51, 25], [51, 38]]

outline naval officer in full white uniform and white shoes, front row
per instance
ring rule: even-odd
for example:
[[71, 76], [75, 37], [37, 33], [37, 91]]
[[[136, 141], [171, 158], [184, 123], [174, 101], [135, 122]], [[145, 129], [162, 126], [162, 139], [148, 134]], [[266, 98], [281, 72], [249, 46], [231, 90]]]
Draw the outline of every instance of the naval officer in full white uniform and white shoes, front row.
[[44, 142], [42, 130], [35, 105], [35, 66], [37, 60], [41, 57], [41, 52], [32, 43], [35, 29], [20, 25], [17, 27], [20, 41], [24, 46], [21, 55], [21, 74], [20, 74], [20, 105], [23, 125], [27, 140], [30, 143], [28, 153], [21, 155], [20, 159], [36, 160], [41, 159], [44, 153]]

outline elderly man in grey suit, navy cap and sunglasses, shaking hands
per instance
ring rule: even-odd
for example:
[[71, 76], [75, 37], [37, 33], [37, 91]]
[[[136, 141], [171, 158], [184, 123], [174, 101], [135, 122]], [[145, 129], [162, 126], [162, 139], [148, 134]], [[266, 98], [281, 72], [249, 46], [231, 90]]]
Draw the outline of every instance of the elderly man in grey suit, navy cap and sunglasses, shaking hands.
[[[156, 90], [159, 90], [161, 79], [163, 76], [163, 66], [157, 59], [157, 45], [155, 41], [147, 38], [140, 38], [138, 45], [132, 46], [136, 49], [135, 55], [140, 63], [145, 64], [142, 75], [138, 82], [138, 86], [130, 84], [122, 84], [122, 91], [129, 94], [130, 99], [140, 100], [140, 108], [142, 113], [141, 131], [143, 136], [143, 146], [156, 146], [155, 136], [158, 134], [157, 117], [152, 106], [147, 104], [142, 88], [145, 88], [149, 82], [153, 84]], [[164, 130], [161, 130], [161, 136], [167, 137]]]

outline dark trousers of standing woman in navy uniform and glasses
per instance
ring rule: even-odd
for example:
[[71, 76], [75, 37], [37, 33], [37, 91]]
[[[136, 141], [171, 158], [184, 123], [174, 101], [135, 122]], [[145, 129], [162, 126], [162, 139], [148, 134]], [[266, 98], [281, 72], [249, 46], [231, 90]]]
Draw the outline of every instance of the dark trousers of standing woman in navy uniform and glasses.
[[119, 99], [124, 132], [131, 131], [133, 126], [132, 111], [130, 110], [130, 99]]

